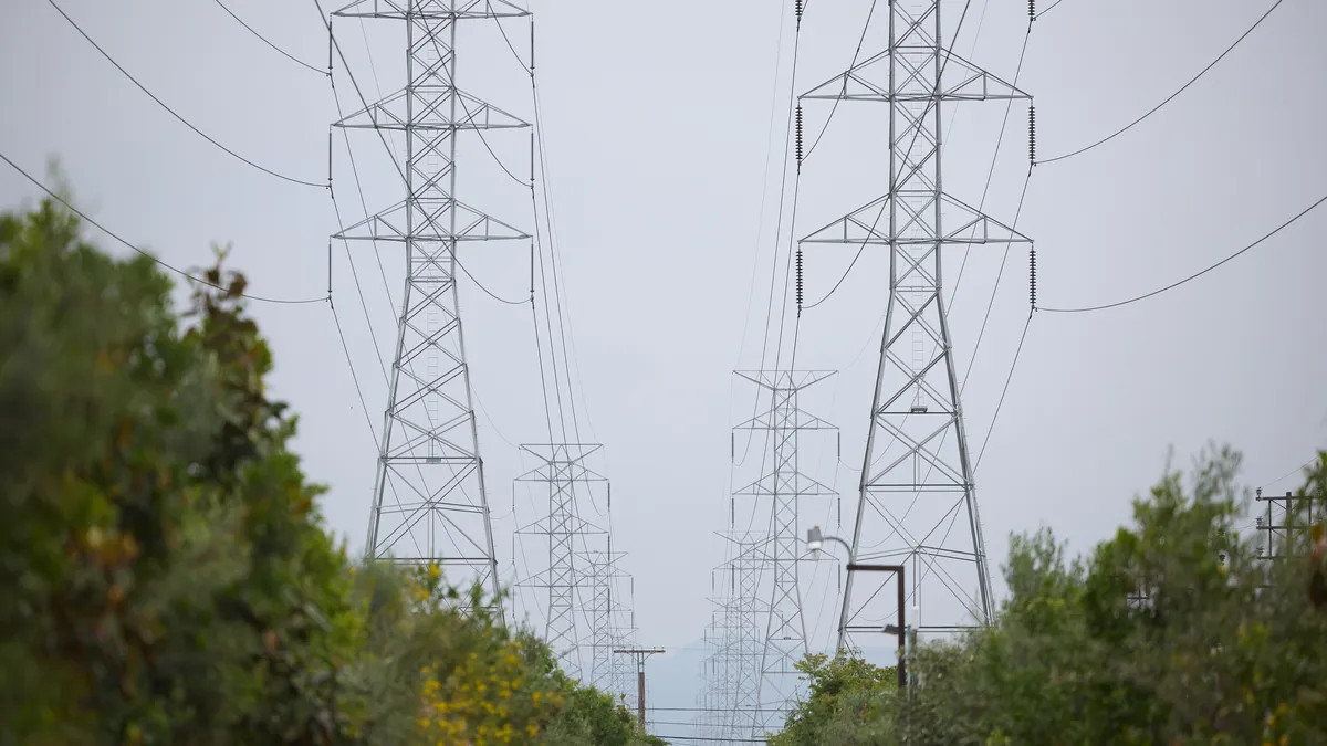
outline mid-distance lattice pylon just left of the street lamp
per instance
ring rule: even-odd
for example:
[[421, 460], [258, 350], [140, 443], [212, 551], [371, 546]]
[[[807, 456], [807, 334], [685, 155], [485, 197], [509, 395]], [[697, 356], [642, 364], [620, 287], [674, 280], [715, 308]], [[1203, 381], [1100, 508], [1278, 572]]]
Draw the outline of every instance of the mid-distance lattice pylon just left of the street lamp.
[[768, 540], [760, 544], [762, 569], [768, 585], [762, 588], [764, 633], [760, 648], [760, 676], [756, 684], [756, 708], [751, 727], [760, 735], [782, 725], [782, 710], [796, 698], [802, 673], [794, 668], [807, 654], [807, 625], [798, 585], [802, 536], [798, 531], [800, 500], [808, 496], [833, 496], [836, 492], [799, 469], [799, 435], [807, 431], [835, 430], [832, 425], [807, 414], [798, 406], [799, 393], [833, 376], [825, 370], [754, 370], [738, 376], [760, 388], [770, 408], [738, 425], [752, 439], [768, 434], [770, 471], [755, 482], [734, 491], [736, 496], [768, 500]]

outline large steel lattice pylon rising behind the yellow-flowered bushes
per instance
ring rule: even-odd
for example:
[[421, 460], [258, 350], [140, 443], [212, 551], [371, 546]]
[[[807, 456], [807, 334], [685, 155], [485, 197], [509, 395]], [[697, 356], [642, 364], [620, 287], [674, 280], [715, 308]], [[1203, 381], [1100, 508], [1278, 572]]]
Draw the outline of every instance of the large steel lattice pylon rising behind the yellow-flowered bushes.
[[[525, 239], [456, 198], [462, 133], [528, 126], [456, 88], [460, 21], [528, 15], [502, 0], [360, 0], [340, 17], [394, 19], [406, 28], [406, 82], [340, 127], [401, 133], [405, 199], [336, 238], [401, 246], [405, 292], [397, 317], [366, 554], [438, 563], [449, 581], [498, 589], [483, 459], [456, 301], [464, 243]], [[378, 135], [385, 133], [380, 131]]]

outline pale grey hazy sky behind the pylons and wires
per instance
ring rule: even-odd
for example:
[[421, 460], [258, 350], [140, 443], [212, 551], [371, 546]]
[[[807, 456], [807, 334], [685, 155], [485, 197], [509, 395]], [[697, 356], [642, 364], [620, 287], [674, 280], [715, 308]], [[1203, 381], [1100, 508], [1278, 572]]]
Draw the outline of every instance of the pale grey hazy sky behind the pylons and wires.
[[[326, 131], [336, 118], [326, 77], [264, 46], [214, 1], [60, 3], [208, 135], [275, 171], [326, 178]], [[287, 52], [325, 68], [326, 33], [312, 0], [227, 4]], [[762, 174], [771, 133], [775, 165], [782, 157], [791, 24], [782, 65], [776, 58], [790, 5], [535, 4], [575, 394], [585, 437], [605, 445], [600, 466], [613, 481], [614, 542], [630, 552], [625, 567], [636, 576], [644, 644], [697, 644], [710, 613], [709, 572], [723, 556], [714, 532], [727, 520], [729, 427], [751, 406], [731, 370], [754, 368], [760, 354], [778, 169], [767, 182]], [[869, 0], [809, 4], [799, 92], [847, 68], [868, 7]], [[950, 24], [961, 7], [946, 0]], [[1267, 0], [1063, 0], [1034, 25], [1019, 78], [1036, 98], [1039, 154], [1075, 150], [1143, 114], [1267, 7]], [[248, 273], [255, 293], [325, 295], [326, 236], [336, 230], [325, 190], [273, 179], [208, 145], [125, 80], [46, 0], [9, 0], [5, 9], [0, 151], [42, 177], [46, 158], [58, 157], [82, 207], [173, 264], [206, 264], [210, 242], [234, 242], [232, 264]], [[974, 0], [970, 15], [957, 52], [1013, 78], [1026, 4]], [[508, 28], [528, 57], [525, 21]], [[1327, 5], [1285, 0], [1148, 121], [1096, 150], [1038, 167], [1018, 227], [1036, 240], [1042, 305], [1109, 303], [1169, 284], [1323, 196], [1327, 142], [1316, 92], [1318, 73], [1327, 69], [1324, 32]], [[361, 29], [338, 20], [337, 36], [366, 96], [401, 86], [398, 24], [369, 21]], [[882, 29], [869, 35], [864, 53], [878, 50], [881, 38]], [[528, 78], [491, 21], [472, 33], [466, 27], [459, 65], [468, 92], [532, 118]], [[342, 105], [357, 109], [349, 81], [340, 72], [336, 80]], [[981, 199], [1003, 110], [983, 104], [958, 112], [946, 135], [946, 191]], [[808, 106], [808, 129], [819, 131], [827, 112]], [[878, 109], [836, 114], [807, 163], [798, 235], [881, 194], [882, 125]], [[1026, 106], [1015, 105], [986, 202], [986, 211], [1006, 222], [1026, 173]], [[527, 137], [492, 138], [523, 178]], [[398, 202], [399, 181], [381, 143], [368, 133], [352, 134], [352, 143], [370, 210]], [[341, 210], [348, 220], [362, 218], [340, 134], [334, 161]], [[463, 200], [531, 227], [528, 192], [487, 153], [464, 151], [460, 174]], [[767, 186], [774, 191], [762, 223]], [[0, 204], [33, 198], [21, 177], [0, 167]], [[1076, 548], [1103, 539], [1128, 519], [1129, 499], [1160, 475], [1169, 447], [1182, 466], [1208, 439], [1230, 442], [1245, 451], [1245, 477], [1258, 486], [1327, 445], [1320, 344], [1327, 258], [1318, 238], [1324, 228], [1327, 208], [1158, 297], [1100, 313], [1034, 317], [978, 471], [991, 556], [1003, 558], [1009, 532], [1039, 524]], [[394, 309], [372, 248], [352, 251], [373, 333], [389, 354]], [[518, 299], [528, 293], [527, 251], [495, 246], [467, 265], [495, 293]], [[851, 254], [808, 252], [807, 295], [821, 296]], [[334, 255], [337, 309], [377, 427], [384, 378], [345, 250], [334, 247]], [[999, 248], [974, 251], [953, 304], [959, 370], [967, 368], [999, 260]], [[385, 256], [384, 267], [399, 293], [398, 258]], [[884, 267], [884, 256], [864, 259], [831, 301], [803, 319], [799, 365], [841, 370], [807, 408], [843, 427], [837, 466], [832, 441], [811, 458], [817, 478], [849, 492], [845, 522], [885, 307]], [[520, 515], [532, 503], [518, 504], [511, 516], [511, 479], [529, 466], [514, 445], [547, 439], [529, 316], [468, 283], [462, 305], [499, 559], [510, 575], [511, 527], [533, 518]], [[255, 305], [253, 313], [276, 350], [276, 394], [301, 415], [297, 447], [307, 469], [332, 487], [328, 520], [358, 547], [376, 453], [332, 315], [325, 304]], [[1015, 250], [963, 397], [974, 449], [990, 426], [1026, 313], [1026, 252]], [[1294, 486], [1286, 479], [1270, 488]], [[805, 520], [823, 520], [825, 506]], [[829, 576], [828, 567], [817, 569], [808, 596], [808, 625], [821, 645], [835, 608]]]

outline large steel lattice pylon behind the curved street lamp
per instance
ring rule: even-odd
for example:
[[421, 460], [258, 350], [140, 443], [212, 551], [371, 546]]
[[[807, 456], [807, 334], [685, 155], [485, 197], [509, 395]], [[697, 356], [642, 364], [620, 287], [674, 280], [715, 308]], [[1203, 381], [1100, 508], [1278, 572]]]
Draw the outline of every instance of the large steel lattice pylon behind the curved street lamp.
[[[940, 634], [991, 616], [941, 259], [950, 246], [1028, 240], [943, 191], [942, 110], [949, 102], [1028, 97], [945, 48], [938, 0], [893, 0], [885, 20], [884, 52], [800, 100], [884, 105], [889, 191], [802, 244], [889, 250], [889, 309], [852, 547], [859, 563], [908, 563], [910, 603], [920, 604], [909, 616], [920, 632]], [[882, 645], [882, 624], [897, 619], [894, 596], [881, 588], [892, 580], [874, 575], [848, 573], [840, 646]]]

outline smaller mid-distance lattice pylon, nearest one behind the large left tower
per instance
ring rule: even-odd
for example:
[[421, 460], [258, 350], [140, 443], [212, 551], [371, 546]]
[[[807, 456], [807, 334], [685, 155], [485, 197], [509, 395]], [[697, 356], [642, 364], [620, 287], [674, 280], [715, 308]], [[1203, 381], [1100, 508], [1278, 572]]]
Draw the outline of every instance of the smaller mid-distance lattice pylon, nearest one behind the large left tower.
[[585, 670], [576, 633], [576, 612], [583, 608], [577, 604], [577, 596], [588, 595], [584, 588], [587, 579], [576, 569], [576, 546], [584, 547], [587, 536], [602, 534], [580, 519], [576, 492], [580, 490], [588, 494], [593, 485], [608, 482], [585, 466], [585, 458], [600, 447], [585, 443], [520, 446], [520, 450], [543, 463], [516, 478], [518, 482], [540, 483], [548, 488], [548, 515], [518, 531], [548, 539], [548, 568], [522, 581], [520, 585], [548, 591], [548, 624], [544, 628], [544, 641], [552, 648], [563, 670], [573, 678], [580, 678]]

